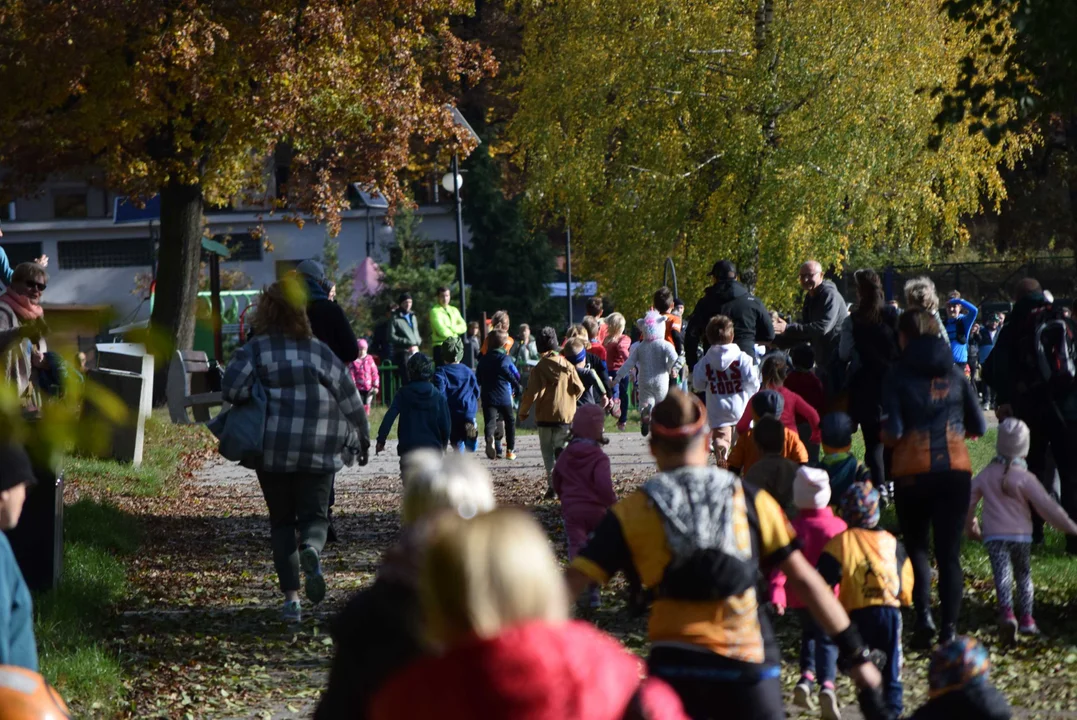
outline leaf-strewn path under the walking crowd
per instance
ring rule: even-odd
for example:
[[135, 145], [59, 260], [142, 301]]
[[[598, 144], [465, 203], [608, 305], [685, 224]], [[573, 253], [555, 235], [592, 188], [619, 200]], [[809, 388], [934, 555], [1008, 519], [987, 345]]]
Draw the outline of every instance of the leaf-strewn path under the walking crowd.
[[[494, 475], [499, 503], [529, 507], [563, 554], [559, 508], [540, 499], [545, 483], [537, 437], [520, 436], [517, 451], [515, 462], [485, 456], [480, 462]], [[615, 434], [607, 451], [618, 494], [653, 469], [638, 434]], [[180, 498], [148, 506], [149, 537], [131, 573], [136, 597], [120, 618], [113, 641], [131, 675], [127, 717], [309, 717], [332, 653], [327, 622], [352, 592], [372, 580], [379, 556], [396, 536], [397, 467], [390, 443], [367, 467], [347, 468], [338, 476], [340, 541], [324, 553], [328, 595], [321, 605], [305, 608], [297, 627], [279, 619], [269, 527], [253, 472], [214, 462]], [[967, 623], [980, 635], [976, 623], [984, 622], [982, 634], [990, 637], [984, 597], [993, 598], [983, 589], [970, 588], [969, 594]], [[645, 651], [644, 622], [629, 616], [617, 587], [603, 593], [603, 608], [592, 619], [629, 648]], [[788, 690], [799, 634], [788, 620], [778, 623], [778, 632]], [[1022, 711], [1021, 717], [1077, 717], [1071, 711], [1077, 683], [1064, 679], [1077, 667], [1077, 654], [1065, 645], [1044, 640], [1002, 657], [992, 652], [992, 661], [1001, 663], [995, 675], [1016, 704], [1033, 707], [1048, 694], [1052, 697], [1047, 707], [1053, 711]], [[908, 707], [925, 695], [926, 664], [924, 655], [908, 653]], [[851, 702], [851, 689], [842, 687]], [[791, 717], [799, 716], [791, 711]], [[843, 717], [855, 720], [859, 715], [849, 708]]]

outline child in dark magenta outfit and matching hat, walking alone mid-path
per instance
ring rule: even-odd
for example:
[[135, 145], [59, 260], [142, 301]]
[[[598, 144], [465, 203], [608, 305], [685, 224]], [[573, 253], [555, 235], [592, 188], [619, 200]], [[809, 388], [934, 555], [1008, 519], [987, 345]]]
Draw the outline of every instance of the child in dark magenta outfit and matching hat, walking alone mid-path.
[[[605, 412], [599, 405], [582, 405], [572, 420], [569, 446], [554, 465], [554, 492], [561, 499], [561, 517], [569, 536], [569, 560], [587, 545], [588, 536], [617, 502], [610, 475], [610, 456], [602, 450], [609, 442], [602, 434]], [[591, 588], [591, 607], [599, 605], [597, 587]]]

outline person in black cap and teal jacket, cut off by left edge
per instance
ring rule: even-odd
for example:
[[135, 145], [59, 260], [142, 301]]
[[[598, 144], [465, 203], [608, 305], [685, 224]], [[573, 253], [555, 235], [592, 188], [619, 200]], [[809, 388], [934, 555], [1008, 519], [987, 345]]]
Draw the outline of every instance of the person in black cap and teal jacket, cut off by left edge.
[[[27, 489], [33, 483], [33, 468], [26, 451], [13, 444], [0, 446], [0, 530], [18, 524]], [[3, 533], [0, 533], [0, 665], [38, 672], [30, 590]]]

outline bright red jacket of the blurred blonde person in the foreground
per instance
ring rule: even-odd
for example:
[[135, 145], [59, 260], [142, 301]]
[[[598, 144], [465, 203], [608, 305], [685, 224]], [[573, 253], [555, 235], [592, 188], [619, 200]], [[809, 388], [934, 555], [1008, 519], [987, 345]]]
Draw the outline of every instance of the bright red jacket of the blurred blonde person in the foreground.
[[[529, 622], [464, 641], [393, 676], [370, 720], [688, 720], [669, 686], [584, 622]], [[640, 692], [645, 712], [629, 712]]]

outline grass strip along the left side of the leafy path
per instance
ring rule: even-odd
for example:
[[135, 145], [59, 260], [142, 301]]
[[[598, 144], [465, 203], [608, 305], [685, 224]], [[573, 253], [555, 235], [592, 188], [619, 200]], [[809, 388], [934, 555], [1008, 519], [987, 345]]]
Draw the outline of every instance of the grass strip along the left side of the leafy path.
[[64, 510], [64, 575], [59, 588], [34, 597], [34, 634], [41, 672], [73, 717], [108, 717], [124, 697], [124, 667], [107, 639], [114, 608], [129, 592], [125, 559], [138, 551], [142, 525], [108, 498], [171, 494], [213, 447], [205, 427], [172, 425], [162, 409], [146, 420], [141, 467], [65, 460], [65, 481], [88, 496]]

